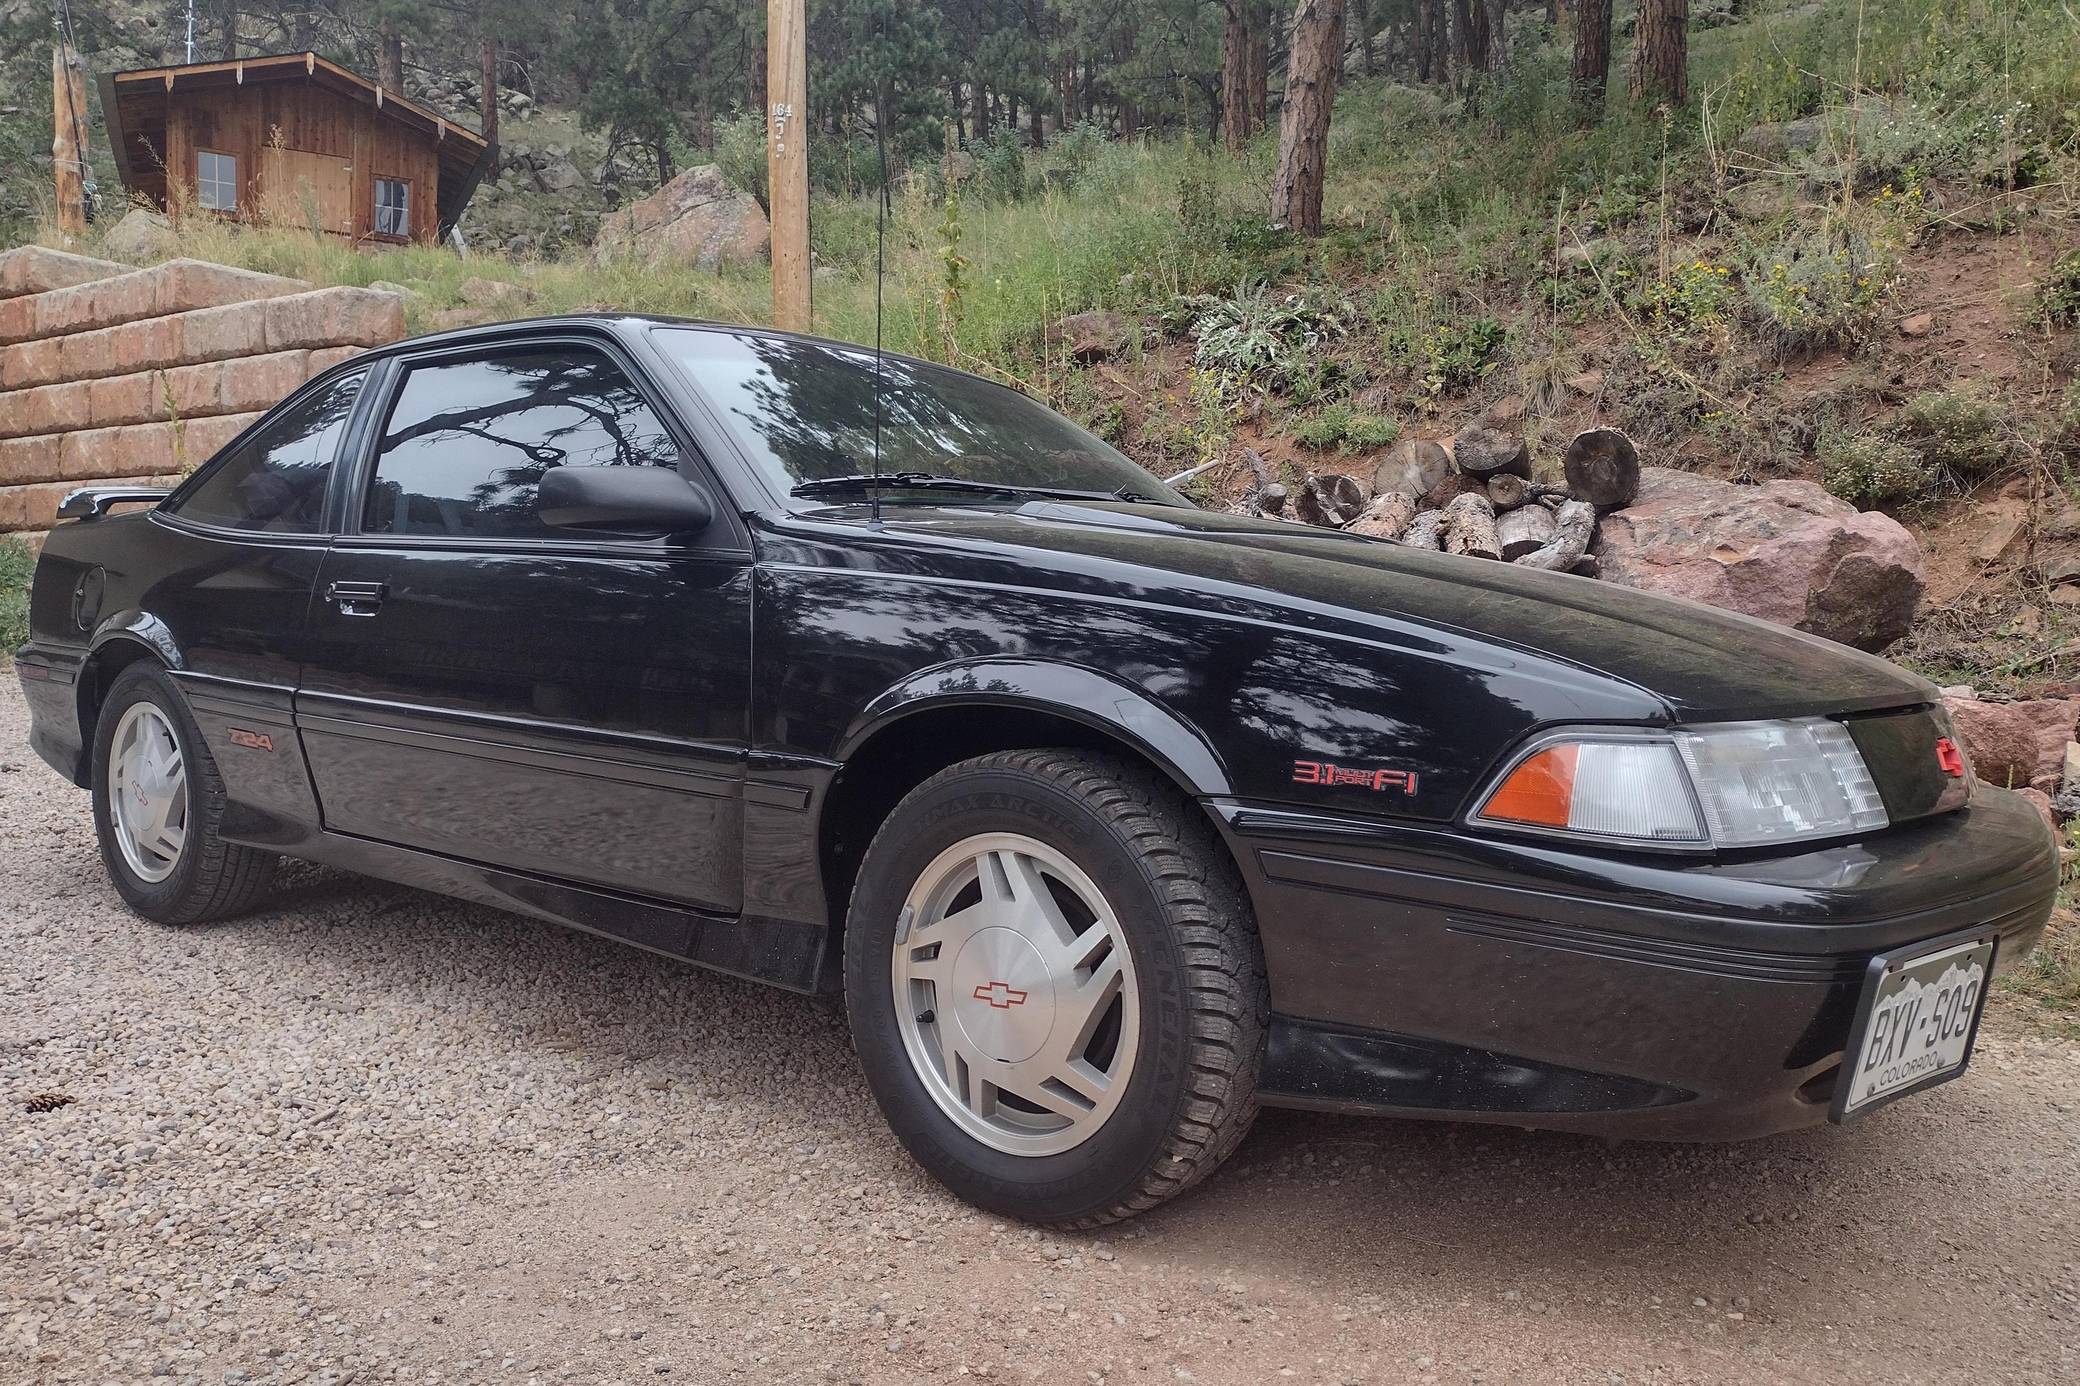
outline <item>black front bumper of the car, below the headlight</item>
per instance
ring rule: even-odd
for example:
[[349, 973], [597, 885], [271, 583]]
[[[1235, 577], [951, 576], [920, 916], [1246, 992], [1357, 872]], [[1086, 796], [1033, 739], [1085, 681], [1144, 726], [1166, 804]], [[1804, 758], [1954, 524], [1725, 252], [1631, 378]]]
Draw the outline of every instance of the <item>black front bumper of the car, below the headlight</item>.
[[1735, 1140], [1826, 1120], [1874, 953], [2051, 916], [2024, 799], [1676, 862], [1215, 801], [1271, 972], [1271, 1105]]

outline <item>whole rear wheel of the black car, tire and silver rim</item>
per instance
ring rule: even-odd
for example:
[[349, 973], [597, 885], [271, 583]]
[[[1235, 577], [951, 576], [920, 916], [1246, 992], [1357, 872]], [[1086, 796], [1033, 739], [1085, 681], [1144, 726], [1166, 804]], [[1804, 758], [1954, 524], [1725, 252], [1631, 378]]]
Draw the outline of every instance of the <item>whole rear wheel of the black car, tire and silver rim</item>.
[[[116, 747], [119, 737], [125, 739], [123, 751]], [[150, 818], [148, 812], [129, 818], [133, 807], [146, 803], [144, 795], [116, 805], [119, 791], [110, 776], [119, 766], [135, 764], [127, 749], [133, 745], [131, 737], [171, 737], [177, 749], [179, 793], [166, 791], [150, 799], [181, 805], [181, 841], [173, 849], [164, 847], [171, 841], [164, 837], [154, 847], [139, 847], [137, 835], [129, 830], [127, 824]], [[164, 749], [162, 739], [156, 745]], [[160, 764], [173, 762], [162, 753]], [[127, 780], [127, 787], [135, 791], [137, 780], [141, 776]], [[162, 782], [171, 782], [171, 776], [154, 776], [152, 789]], [[160, 924], [204, 924], [250, 909], [272, 882], [281, 857], [227, 843], [218, 835], [223, 816], [225, 782], [187, 699], [158, 664], [131, 664], [116, 674], [94, 722], [94, 832], [123, 903]]]

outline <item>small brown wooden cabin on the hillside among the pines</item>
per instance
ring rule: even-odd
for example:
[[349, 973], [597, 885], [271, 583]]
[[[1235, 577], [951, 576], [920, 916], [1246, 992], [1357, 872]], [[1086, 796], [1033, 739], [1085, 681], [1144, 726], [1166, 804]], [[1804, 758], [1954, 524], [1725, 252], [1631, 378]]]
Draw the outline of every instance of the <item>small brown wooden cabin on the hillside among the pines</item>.
[[100, 85], [123, 187], [179, 216], [358, 246], [435, 241], [497, 158], [476, 131], [314, 52], [106, 73]]

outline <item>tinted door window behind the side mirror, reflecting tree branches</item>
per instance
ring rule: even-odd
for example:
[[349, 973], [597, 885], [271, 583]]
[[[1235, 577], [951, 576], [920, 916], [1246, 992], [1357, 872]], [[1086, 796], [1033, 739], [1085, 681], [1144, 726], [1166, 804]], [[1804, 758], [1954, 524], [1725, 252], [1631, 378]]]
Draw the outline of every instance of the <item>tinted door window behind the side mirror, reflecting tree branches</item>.
[[372, 535], [541, 539], [551, 466], [678, 466], [634, 383], [587, 348], [522, 348], [412, 366], [379, 441], [362, 512]]

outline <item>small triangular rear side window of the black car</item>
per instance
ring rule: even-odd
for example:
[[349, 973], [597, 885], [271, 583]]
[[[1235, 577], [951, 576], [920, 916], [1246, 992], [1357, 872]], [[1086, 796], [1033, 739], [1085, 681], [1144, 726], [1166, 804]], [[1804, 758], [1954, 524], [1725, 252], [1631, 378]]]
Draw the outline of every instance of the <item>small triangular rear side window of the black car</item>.
[[171, 506], [202, 524], [266, 535], [314, 535], [324, 520], [324, 483], [354, 412], [362, 375], [312, 391], [216, 458]]

